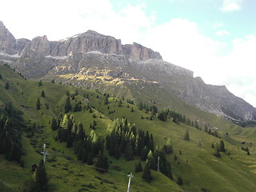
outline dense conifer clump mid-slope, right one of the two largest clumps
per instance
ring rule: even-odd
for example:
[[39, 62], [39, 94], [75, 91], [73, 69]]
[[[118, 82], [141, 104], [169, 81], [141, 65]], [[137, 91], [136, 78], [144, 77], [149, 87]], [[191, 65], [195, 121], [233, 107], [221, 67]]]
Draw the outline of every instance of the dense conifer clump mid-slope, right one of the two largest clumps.
[[120, 158], [124, 154], [126, 160], [133, 159], [134, 155], [141, 156], [142, 151], [154, 150], [154, 138], [152, 134], [136, 127], [126, 118], [115, 119], [110, 128], [110, 134], [106, 136], [106, 149], [114, 158]]

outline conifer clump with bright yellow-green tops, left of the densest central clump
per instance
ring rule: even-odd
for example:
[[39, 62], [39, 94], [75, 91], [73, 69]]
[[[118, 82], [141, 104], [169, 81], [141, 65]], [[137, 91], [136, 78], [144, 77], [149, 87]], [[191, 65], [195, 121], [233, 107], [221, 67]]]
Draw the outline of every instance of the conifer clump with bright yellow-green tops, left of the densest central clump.
[[58, 129], [57, 138], [60, 142], [66, 142], [67, 147], [74, 146], [74, 153], [78, 160], [93, 164], [93, 159], [98, 156], [96, 167], [98, 171], [105, 172], [109, 168], [108, 159], [103, 154], [105, 138], [97, 136], [94, 130], [90, 135], [86, 135], [82, 123], [78, 125], [74, 122], [72, 114], [59, 115], [58, 121], [53, 119], [52, 129]]

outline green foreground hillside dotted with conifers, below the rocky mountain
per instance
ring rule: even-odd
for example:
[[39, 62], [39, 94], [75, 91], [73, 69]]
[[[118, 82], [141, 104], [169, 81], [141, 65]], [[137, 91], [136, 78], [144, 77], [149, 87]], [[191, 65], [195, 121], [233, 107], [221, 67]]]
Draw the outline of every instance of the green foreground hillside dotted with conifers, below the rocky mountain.
[[[166, 121], [162, 121], [158, 118], [158, 114], [152, 113], [153, 111], [140, 110], [139, 106], [122, 101], [120, 98], [110, 96], [107, 98], [108, 103], [105, 104], [107, 94], [103, 94], [104, 92], [101, 94], [99, 90], [86, 90], [59, 83], [25, 80], [7, 65], [0, 65], [0, 74], [2, 76], [0, 78], [0, 146], [14, 146], [15, 142], [22, 144], [20, 146], [22, 153], [14, 153], [15, 147], [6, 147], [7, 150], [13, 151], [9, 155], [3, 153], [6, 152], [3, 151], [5, 147], [0, 147], [1, 192], [25, 191], [27, 187], [31, 186], [31, 183], [34, 183], [34, 172], [31, 171], [31, 166], [42, 159], [43, 144], [46, 144], [46, 151], [49, 154], [45, 163], [47, 177], [50, 178], [47, 190], [49, 192], [126, 191], [129, 179], [127, 174], [129, 173], [134, 175], [131, 180], [130, 191], [248, 192], [255, 190], [255, 128], [242, 128], [218, 115], [206, 113], [190, 107], [182, 100], [177, 100], [178, 106], [186, 107], [186, 113], [195, 114], [199, 118], [199, 121], [196, 121], [197, 118], [189, 117], [191, 121], [202, 123], [202, 118], [207, 119], [206, 125], [210, 125], [209, 129], [211, 128], [210, 130], [214, 133], [216, 133], [216, 127], [211, 127], [211, 125], [218, 126], [217, 136], [221, 137], [218, 138], [210, 134], [210, 130], [207, 133], [202, 124], [200, 125], [202, 129], [200, 129], [191, 126], [191, 124], [189, 126], [187, 122], [184, 123], [183, 114], [180, 116], [181, 122], [174, 122], [172, 113], [170, 116], [168, 114]], [[137, 80], [134, 79], [134, 81]], [[9, 82], [8, 88], [6, 88], [7, 82]], [[142, 86], [146, 88], [147, 83], [150, 82], [144, 84], [138, 82], [139, 88], [141, 89]], [[159, 90], [157, 83], [151, 83], [152, 89]], [[132, 87], [130, 87], [131, 89]], [[144, 91], [141, 89], [139, 94]], [[146, 90], [146, 93], [149, 93], [148, 91], [152, 90]], [[166, 92], [155, 94], [162, 97]], [[72, 110], [69, 114], [64, 114], [66, 101], [69, 98], [67, 95], [70, 95]], [[40, 107], [38, 107], [38, 100]], [[172, 102], [173, 105], [175, 103]], [[79, 110], [75, 110], [77, 104], [82, 106]], [[153, 106], [153, 103], [150, 106]], [[5, 118], [2, 118], [2, 115]], [[68, 117], [72, 120], [64, 123], [66, 121], [63, 119], [67, 120]], [[127, 122], [123, 117], [126, 117]], [[7, 126], [8, 123], [2, 123], [3, 120], [7, 122], [6, 118], [11, 120], [14, 126]], [[58, 119], [59, 125], [61, 125], [58, 130], [51, 129], [54, 118]], [[110, 149], [107, 149], [108, 139], [106, 136], [111, 135], [113, 138], [114, 134], [112, 134], [113, 132], [110, 134], [110, 131], [114, 130], [114, 125], [119, 126], [118, 119], [120, 122], [122, 119], [123, 122], [116, 132], [116, 135], [122, 138], [119, 140], [119, 143], [121, 141], [123, 143], [122, 147], [125, 145], [129, 149], [129, 145], [133, 145], [135, 147], [134, 152], [137, 154], [137, 146], [142, 144], [142, 142], [138, 142], [141, 141], [139, 140], [140, 137], [135, 137], [137, 133], [144, 135], [148, 131], [149, 134], [146, 134], [148, 137], [144, 137], [143, 143], [145, 143], [146, 138], [154, 138], [152, 140], [154, 140], [155, 150], [153, 153], [148, 153], [151, 163], [157, 162], [155, 158], [160, 152], [159, 149], [170, 143], [169, 152], [160, 154], [161, 171], [158, 172], [156, 167], [152, 167], [150, 170], [153, 179], [150, 184], [142, 178], [142, 172], [134, 172], [134, 164], [138, 162], [142, 163], [142, 169], [145, 170], [146, 161], [141, 160], [139, 155], [134, 155], [132, 159], [126, 160], [126, 155], [130, 152], [122, 152], [121, 156], [116, 157], [115, 154], [110, 154]], [[22, 126], [22, 122], [25, 124], [24, 126]], [[131, 126], [132, 129], [130, 129]], [[79, 141], [81, 127], [88, 137], [84, 142]], [[129, 128], [127, 129], [127, 127]], [[121, 130], [122, 134], [120, 134]], [[130, 134], [124, 134], [125, 130], [129, 130]], [[190, 141], [184, 140], [186, 130], [189, 132]], [[18, 135], [20, 139], [6, 142], [15, 135]], [[62, 135], [64, 137], [61, 138]], [[90, 140], [92, 136], [94, 139]], [[108, 172], [104, 174], [95, 168], [98, 157], [92, 159], [90, 162], [92, 165], [87, 165], [90, 163], [86, 162], [86, 157], [88, 160], [90, 156], [88, 156], [89, 151], [97, 150], [98, 147], [102, 146], [88, 147], [88, 143], [90, 141], [98, 143], [102, 139], [105, 143], [102, 149], [109, 161]], [[128, 142], [129, 140], [130, 142]], [[114, 151], [121, 150], [119, 148], [121, 144], [120, 146], [118, 144], [113, 145], [114, 141], [117, 141], [116, 139], [111, 139], [111, 141], [113, 141], [111, 146], [117, 146], [114, 147], [116, 148]], [[242, 141], [244, 144], [241, 143]], [[218, 144], [221, 147], [222, 142], [225, 143], [226, 152], [220, 152], [221, 156], [216, 157], [214, 154], [218, 150]], [[130, 144], [128, 145], [128, 143]], [[137, 145], [137, 143], [140, 144]], [[152, 142], [150, 143], [152, 145]], [[82, 156], [78, 158], [78, 153], [81, 154], [81, 150]], [[97, 154], [97, 152], [94, 153]], [[9, 161], [11, 160], [10, 157], [17, 157], [18, 154], [22, 155], [21, 163]], [[154, 160], [150, 158], [150, 154], [153, 154]], [[166, 164], [162, 161], [165, 158], [170, 162], [172, 179], [166, 177], [165, 170], [162, 170], [162, 166]]]

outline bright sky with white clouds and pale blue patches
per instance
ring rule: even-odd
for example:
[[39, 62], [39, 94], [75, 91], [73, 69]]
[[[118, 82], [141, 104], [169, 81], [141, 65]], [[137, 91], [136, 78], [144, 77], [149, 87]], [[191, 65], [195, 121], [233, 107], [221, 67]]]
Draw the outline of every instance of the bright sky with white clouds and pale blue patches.
[[256, 107], [255, 10], [255, 0], [8, 0], [0, 21], [15, 38], [95, 30], [138, 42]]

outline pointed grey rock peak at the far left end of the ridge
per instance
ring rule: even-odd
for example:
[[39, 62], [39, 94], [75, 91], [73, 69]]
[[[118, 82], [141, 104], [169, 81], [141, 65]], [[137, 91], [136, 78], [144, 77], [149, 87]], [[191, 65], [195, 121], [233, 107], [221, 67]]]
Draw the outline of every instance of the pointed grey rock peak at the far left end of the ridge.
[[16, 54], [16, 39], [0, 21], [0, 52], [4, 54]]

